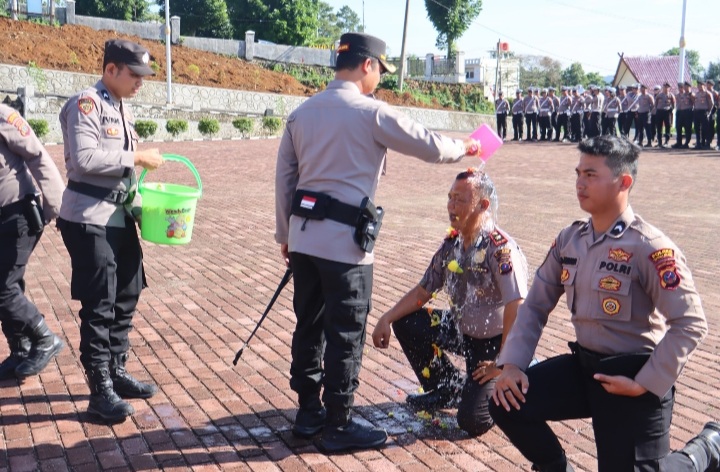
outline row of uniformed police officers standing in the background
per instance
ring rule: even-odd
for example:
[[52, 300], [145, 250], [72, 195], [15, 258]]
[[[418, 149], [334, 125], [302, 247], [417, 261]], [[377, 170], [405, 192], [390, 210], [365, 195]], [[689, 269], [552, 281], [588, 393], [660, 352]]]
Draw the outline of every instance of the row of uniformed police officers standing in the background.
[[712, 80], [698, 82], [693, 91], [686, 81], [678, 83], [678, 92], [673, 93], [668, 82], [652, 91], [639, 83], [617, 88], [590, 85], [587, 89], [578, 85], [562, 86], [560, 95], [555, 87], [528, 87], [525, 92], [517, 89], [512, 103], [500, 91], [495, 100], [497, 132], [507, 139], [511, 115], [513, 141], [579, 142], [600, 135], [629, 138], [634, 129], [636, 144], [665, 148], [674, 119], [677, 140], [673, 148], [689, 148], [694, 129], [695, 149], [720, 150], [719, 141], [712, 145], [716, 134], [720, 135], [716, 133], [720, 96], [714, 86]]

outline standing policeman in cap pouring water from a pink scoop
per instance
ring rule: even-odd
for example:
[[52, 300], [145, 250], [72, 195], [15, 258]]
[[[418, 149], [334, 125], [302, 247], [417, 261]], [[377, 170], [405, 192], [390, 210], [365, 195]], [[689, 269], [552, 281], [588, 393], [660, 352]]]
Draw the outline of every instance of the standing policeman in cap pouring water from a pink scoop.
[[372, 294], [368, 242], [380, 223], [372, 199], [387, 149], [437, 163], [479, 153], [477, 141], [431, 132], [367, 96], [394, 70], [384, 41], [343, 34], [335, 80], [290, 114], [278, 150], [275, 240], [293, 270], [297, 317], [290, 386], [300, 408], [292, 431], [322, 432], [325, 452], [387, 440], [384, 430], [350, 417]]

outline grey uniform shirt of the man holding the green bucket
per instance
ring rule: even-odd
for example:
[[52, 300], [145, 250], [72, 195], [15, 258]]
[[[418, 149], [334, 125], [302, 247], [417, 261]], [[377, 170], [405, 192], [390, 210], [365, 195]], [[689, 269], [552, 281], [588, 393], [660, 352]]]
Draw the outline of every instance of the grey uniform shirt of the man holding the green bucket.
[[126, 216], [139, 209], [134, 153], [139, 138], [134, 123], [128, 105], [113, 98], [102, 81], [73, 96], [63, 106], [60, 125], [68, 180], [121, 190], [131, 196], [123, 205], [66, 189], [61, 218], [124, 227]]

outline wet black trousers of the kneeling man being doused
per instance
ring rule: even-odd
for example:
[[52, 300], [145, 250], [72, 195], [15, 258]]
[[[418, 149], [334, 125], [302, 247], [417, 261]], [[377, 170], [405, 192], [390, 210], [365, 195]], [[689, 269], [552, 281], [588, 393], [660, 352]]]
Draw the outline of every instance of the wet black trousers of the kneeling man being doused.
[[[440, 323], [433, 326], [431, 316], [439, 319]], [[440, 310], [433, 310], [430, 315], [426, 309], [417, 310], [393, 323], [393, 332], [423, 390], [429, 392], [438, 387], [450, 387], [456, 391], [462, 389], [457, 412], [458, 426], [461, 429], [471, 436], [479, 436], [492, 428], [488, 400], [492, 395], [495, 380], [480, 385], [473, 380], [472, 372], [477, 368], [478, 362], [497, 357], [502, 335], [489, 339], [460, 335], [452, 315]], [[433, 344], [442, 350], [465, 357], [466, 375], [460, 373], [447, 355], [436, 356]], [[429, 377], [423, 375], [426, 367], [430, 371]]]

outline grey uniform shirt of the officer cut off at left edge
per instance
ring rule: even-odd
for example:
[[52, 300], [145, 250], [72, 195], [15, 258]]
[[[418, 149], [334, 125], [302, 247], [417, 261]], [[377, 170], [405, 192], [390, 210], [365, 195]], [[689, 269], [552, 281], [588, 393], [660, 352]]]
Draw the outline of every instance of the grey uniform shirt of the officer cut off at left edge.
[[35, 193], [33, 177], [43, 195], [45, 219], [52, 220], [65, 188], [60, 171], [20, 113], [0, 104], [0, 207]]

